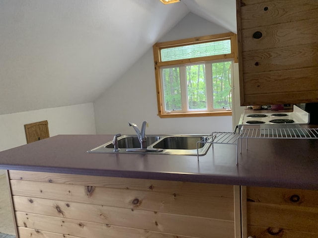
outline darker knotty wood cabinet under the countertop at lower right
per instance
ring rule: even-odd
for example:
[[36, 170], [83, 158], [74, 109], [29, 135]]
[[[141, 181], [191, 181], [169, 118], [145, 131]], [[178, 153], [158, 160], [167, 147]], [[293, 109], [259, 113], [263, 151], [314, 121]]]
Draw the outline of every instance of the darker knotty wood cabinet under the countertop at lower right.
[[245, 201], [244, 238], [318, 237], [318, 191], [247, 187]]

